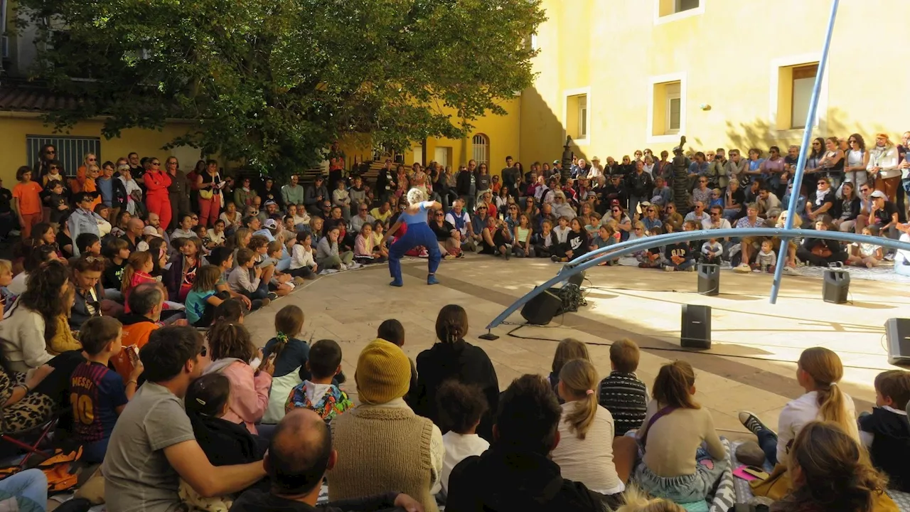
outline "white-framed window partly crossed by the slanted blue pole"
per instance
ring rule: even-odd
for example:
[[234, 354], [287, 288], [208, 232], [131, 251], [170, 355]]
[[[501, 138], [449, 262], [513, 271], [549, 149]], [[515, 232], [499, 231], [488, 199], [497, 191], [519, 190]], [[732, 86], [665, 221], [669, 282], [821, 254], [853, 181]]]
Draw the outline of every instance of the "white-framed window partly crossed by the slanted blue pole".
[[[809, 104], [815, 78], [818, 77], [819, 54], [784, 56], [771, 61], [768, 90], [770, 109], [769, 124], [778, 131], [801, 130], [809, 117]], [[826, 74], [825, 74], [826, 75]], [[824, 132], [824, 118], [828, 106], [828, 77], [822, 77], [815, 111], [813, 128]]]

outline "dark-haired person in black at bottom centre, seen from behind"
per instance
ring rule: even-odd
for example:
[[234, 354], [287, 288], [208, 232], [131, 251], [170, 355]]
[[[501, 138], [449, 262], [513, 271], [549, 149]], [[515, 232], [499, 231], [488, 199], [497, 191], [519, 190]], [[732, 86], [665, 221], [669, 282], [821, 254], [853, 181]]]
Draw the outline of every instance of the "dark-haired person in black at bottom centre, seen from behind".
[[496, 442], [452, 469], [446, 511], [602, 512], [603, 495], [563, 478], [550, 459], [560, 443], [560, 416], [540, 375], [512, 381], [496, 415]]

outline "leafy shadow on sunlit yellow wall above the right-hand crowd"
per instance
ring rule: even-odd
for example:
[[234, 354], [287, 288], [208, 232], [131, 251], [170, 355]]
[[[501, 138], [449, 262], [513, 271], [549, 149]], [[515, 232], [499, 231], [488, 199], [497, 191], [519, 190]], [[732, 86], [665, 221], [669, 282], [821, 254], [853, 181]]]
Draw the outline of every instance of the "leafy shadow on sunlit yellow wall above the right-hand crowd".
[[[866, 148], [875, 144], [875, 133], [885, 130], [880, 124], [865, 125], [861, 122], [848, 120], [844, 113], [838, 108], [829, 108], [827, 118], [822, 118], [820, 126], [825, 127], [824, 132], [819, 128], [814, 128], [812, 138], [837, 137], [847, 138], [853, 133], [858, 133], [865, 139]], [[803, 129], [779, 130], [767, 119], [755, 119], [751, 122], [734, 122], [727, 121], [727, 140], [729, 148], [739, 148], [745, 156], [749, 148], [761, 148], [763, 157], [770, 146], [778, 146], [781, 152], [786, 154], [787, 147], [791, 144], [800, 144], [803, 141]], [[714, 148], [717, 146], [712, 141], [701, 141], [698, 138], [693, 140], [700, 147]], [[707, 146], [705, 146], [707, 144]]]

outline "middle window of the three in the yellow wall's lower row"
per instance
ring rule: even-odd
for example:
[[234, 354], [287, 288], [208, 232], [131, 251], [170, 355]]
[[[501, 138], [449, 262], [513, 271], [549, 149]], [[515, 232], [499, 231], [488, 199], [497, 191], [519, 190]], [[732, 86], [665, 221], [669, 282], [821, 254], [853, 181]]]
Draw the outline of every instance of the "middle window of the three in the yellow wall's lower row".
[[675, 142], [685, 133], [686, 75], [673, 73], [649, 77], [647, 141]]

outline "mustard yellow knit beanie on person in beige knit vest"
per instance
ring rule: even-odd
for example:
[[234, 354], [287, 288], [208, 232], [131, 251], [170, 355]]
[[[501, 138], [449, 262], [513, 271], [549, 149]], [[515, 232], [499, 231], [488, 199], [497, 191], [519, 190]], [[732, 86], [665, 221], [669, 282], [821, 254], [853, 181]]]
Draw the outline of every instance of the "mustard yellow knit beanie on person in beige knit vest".
[[408, 393], [410, 360], [395, 343], [374, 340], [360, 352], [354, 380], [364, 404], [386, 404]]

